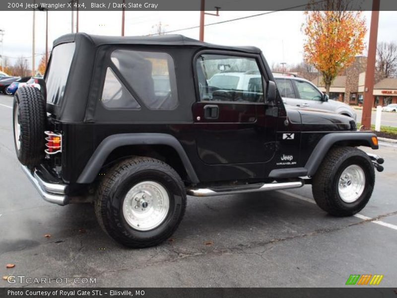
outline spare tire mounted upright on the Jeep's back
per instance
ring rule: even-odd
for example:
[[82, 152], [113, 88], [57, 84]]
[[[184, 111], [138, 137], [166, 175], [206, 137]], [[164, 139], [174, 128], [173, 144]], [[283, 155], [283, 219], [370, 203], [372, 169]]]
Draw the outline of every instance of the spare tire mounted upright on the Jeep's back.
[[45, 156], [46, 101], [35, 87], [18, 88], [13, 104], [14, 145], [19, 161], [35, 166]]

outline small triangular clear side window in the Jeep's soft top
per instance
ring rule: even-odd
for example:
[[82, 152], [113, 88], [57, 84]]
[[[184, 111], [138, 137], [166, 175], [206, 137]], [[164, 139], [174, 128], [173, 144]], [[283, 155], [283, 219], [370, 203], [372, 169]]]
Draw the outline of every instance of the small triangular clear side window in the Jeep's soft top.
[[101, 101], [105, 107], [110, 109], [140, 108], [135, 98], [133, 98], [131, 93], [117, 78], [110, 67], [106, 70]]

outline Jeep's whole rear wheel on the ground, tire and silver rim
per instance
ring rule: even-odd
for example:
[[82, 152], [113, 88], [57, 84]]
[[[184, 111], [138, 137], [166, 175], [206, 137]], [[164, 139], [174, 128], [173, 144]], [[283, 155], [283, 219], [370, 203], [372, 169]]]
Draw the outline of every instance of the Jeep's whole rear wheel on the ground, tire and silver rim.
[[95, 213], [116, 241], [134, 248], [169, 238], [186, 209], [186, 190], [168, 164], [148, 157], [122, 161], [105, 174], [98, 188]]

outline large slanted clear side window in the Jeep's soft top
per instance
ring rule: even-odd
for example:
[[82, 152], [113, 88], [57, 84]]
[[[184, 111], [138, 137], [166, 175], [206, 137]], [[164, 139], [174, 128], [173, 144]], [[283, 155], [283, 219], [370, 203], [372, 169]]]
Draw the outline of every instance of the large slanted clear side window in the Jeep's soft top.
[[175, 67], [167, 53], [115, 50], [112, 62], [151, 110], [173, 110], [178, 106]]

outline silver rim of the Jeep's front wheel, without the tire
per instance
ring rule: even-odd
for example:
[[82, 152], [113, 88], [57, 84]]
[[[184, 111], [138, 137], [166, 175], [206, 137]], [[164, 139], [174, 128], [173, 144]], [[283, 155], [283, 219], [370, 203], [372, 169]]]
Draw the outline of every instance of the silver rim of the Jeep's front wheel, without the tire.
[[349, 165], [340, 174], [339, 197], [343, 202], [353, 203], [362, 195], [365, 188], [364, 170], [357, 164]]

